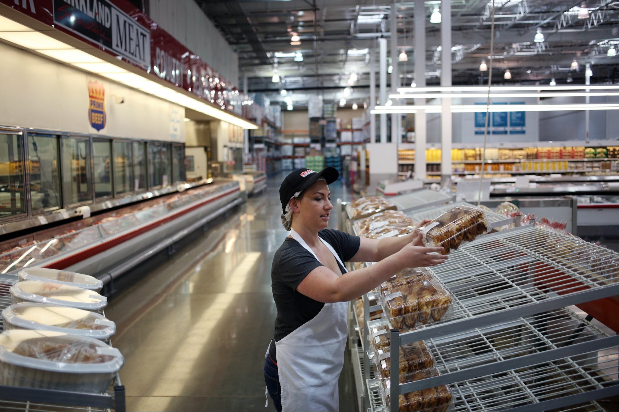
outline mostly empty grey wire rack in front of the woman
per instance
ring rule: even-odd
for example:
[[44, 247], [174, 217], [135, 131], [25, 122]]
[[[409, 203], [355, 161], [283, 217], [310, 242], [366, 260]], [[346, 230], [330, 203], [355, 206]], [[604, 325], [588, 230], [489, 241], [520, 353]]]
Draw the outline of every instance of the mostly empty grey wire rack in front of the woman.
[[619, 336], [565, 309], [586, 311], [585, 304], [617, 295], [617, 262], [617, 252], [527, 225], [478, 238], [423, 268], [451, 292], [454, 315], [392, 330], [391, 353], [425, 340], [442, 374], [402, 385], [392, 377], [391, 398], [449, 384], [456, 410], [519, 411], [619, 395], [617, 358], [607, 354], [616, 353]]

